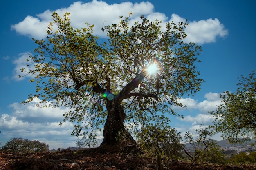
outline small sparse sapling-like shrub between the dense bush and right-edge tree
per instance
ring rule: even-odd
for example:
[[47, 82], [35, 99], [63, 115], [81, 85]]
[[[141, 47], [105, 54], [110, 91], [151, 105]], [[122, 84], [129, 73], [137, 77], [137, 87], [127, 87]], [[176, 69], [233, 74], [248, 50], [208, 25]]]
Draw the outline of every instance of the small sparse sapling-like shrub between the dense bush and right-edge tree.
[[204, 124], [200, 124], [195, 132], [198, 135], [197, 138], [194, 138], [191, 132], [186, 132], [184, 136], [186, 142], [191, 144], [195, 151], [194, 155], [187, 153], [191, 161], [224, 163], [224, 156], [221, 154], [220, 146], [217, 145], [216, 141], [211, 140], [215, 132], [209, 127], [204, 127]]

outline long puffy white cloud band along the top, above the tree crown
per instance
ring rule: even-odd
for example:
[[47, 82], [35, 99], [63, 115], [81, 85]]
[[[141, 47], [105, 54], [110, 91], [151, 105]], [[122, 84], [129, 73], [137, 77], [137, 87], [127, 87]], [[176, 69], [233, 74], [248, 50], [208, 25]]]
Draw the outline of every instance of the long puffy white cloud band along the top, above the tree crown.
[[[65, 11], [71, 13], [70, 20], [74, 28], [85, 26], [85, 22], [94, 24], [94, 33], [98, 36], [105, 36], [101, 28], [105, 25], [119, 22], [119, 16], [127, 16], [130, 11], [133, 12], [131, 21], [140, 20], [139, 16], [145, 15], [150, 20], [162, 20], [162, 26], [166, 22], [175, 23], [185, 22], [186, 20], [177, 14], [172, 14], [170, 20], [164, 13], [154, 11], [154, 6], [150, 2], [122, 2], [120, 4], [107, 4], [104, 1], [93, 0], [92, 2], [74, 2], [67, 8], [56, 9], [56, 13], [62, 15]], [[21, 35], [42, 39], [46, 37], [46, 29], [52, 20], [50, 10], [37, 14], [36, 17], [27, 16], [23, 21], [11, 26]], [[215, 42], [217, 37], [225, 37], [228, 34], [225, 26], [215, 18], [207, 20], [188, 22], [185, 29], [187, 38], [185, 42], [195, 42], [198, 44]]]

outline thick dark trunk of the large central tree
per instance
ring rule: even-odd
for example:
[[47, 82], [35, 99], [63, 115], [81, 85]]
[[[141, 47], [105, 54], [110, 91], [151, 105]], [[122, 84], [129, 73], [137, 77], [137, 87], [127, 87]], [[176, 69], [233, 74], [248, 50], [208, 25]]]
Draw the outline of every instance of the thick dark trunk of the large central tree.
[[136, 144], [130, 132], [124, 128], [126, 114], [117, 100], [107, 100], [108, 116], [105, 122], [102, 145]]

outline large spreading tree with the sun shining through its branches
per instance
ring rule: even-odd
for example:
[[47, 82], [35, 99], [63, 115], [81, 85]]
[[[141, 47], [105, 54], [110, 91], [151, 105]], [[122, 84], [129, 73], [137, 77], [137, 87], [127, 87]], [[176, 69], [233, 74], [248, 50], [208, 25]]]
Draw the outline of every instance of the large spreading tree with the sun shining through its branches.
[[161, 28], [141, 16], [131, 26], [129, 17], [120, 17], [102, 28], [108, 41], [99, 44], [93, 25], [73, 29], [69, 15], [53, 12], [47, 38], [34, 40], [38, 48], [29, 60], [35, 68], [28, 67], [37, 86], [26, 102], [38, 97], [42, 107], [69, 107], [64, 121], [74, 123], [72, 135], [95, 139], [105, 122], [101, 145], [117, 144], [120, 133], [135, 143], [126, 126], [176, 115], [171, 105], [182, 106], [179, 97], [199, 91], [201, 48], [182, 41], [186, 23]]

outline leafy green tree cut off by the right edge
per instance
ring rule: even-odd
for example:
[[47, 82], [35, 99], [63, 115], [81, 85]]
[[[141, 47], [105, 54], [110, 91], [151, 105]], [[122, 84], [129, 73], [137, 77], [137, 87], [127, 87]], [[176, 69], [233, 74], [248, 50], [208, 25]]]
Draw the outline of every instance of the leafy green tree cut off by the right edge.
[[256, 139], [255, 71], [249, 77], [242, 76], [237, 85], [236, 93], [223, 92], [220, 97], [224, 104], [210, 112], [215, 118], [213, 128], [231, 143], [239, 142], [240, 138]]

